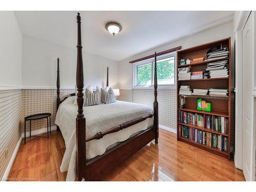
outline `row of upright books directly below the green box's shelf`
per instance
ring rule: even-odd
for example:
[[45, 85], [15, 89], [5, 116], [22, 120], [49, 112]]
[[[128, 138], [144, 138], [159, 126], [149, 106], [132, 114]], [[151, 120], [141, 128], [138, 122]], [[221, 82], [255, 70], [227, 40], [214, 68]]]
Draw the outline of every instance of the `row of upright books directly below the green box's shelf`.
[[205, 129], [228, 134], [227, 117], [179, 111], [178, 122], [201, 126]]

